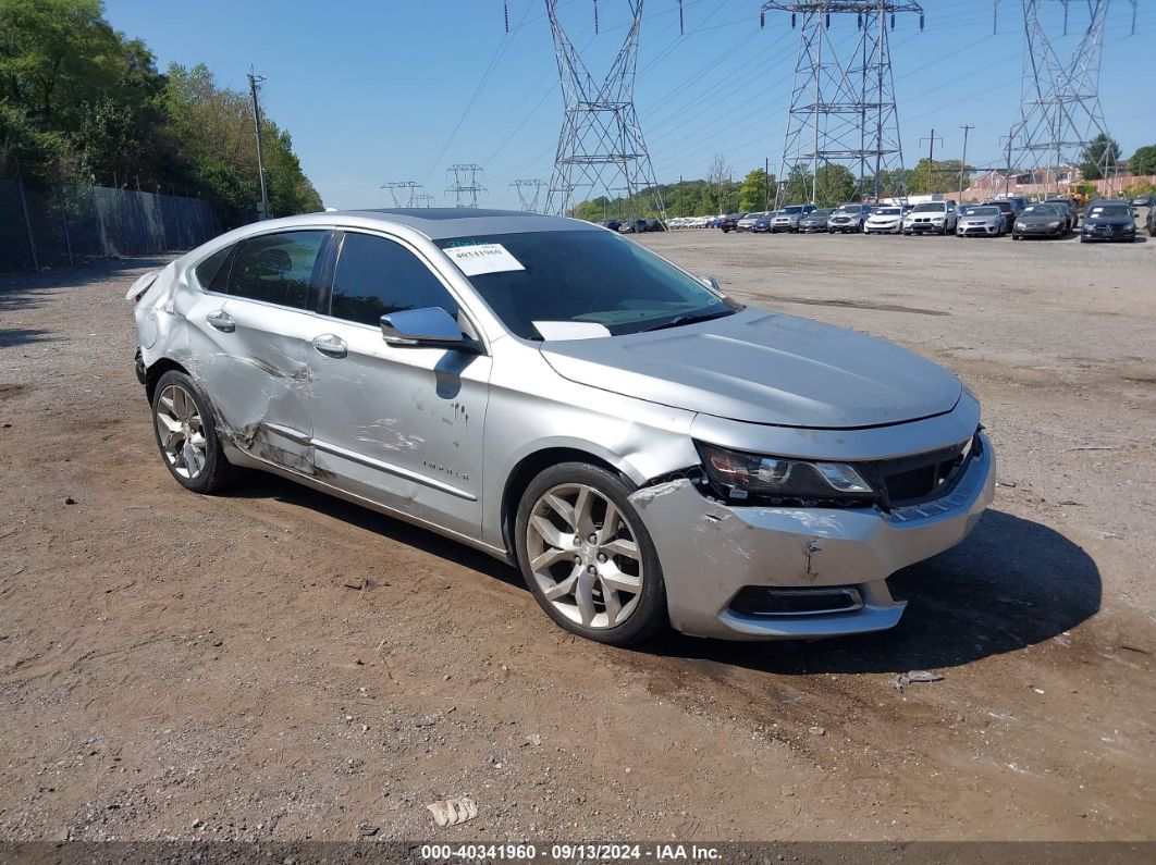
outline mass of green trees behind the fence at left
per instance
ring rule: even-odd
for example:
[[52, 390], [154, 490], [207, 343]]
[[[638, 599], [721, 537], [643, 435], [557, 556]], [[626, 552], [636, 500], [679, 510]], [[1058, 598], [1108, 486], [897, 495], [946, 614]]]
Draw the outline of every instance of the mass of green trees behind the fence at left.
[[[272, 211], [319, 210], [289, 134], [262, 120]], [[0, 177], [176, 188], [231, 226], [255, 216], [253, 134], [247, 96], [203, 66], [158, 72], [99, 0], [0, 0]]]

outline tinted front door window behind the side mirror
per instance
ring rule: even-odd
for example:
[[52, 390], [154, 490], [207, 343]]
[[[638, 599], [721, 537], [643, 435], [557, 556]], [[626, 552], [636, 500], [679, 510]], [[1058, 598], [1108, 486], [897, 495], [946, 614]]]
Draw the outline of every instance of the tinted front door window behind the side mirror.
[[458, 304], [421, 259], [392, 240], [353, 232], [341, 244], [332, 298], [334, 318], [375, 327], [403, 310], [440, 306], [458, 315]]

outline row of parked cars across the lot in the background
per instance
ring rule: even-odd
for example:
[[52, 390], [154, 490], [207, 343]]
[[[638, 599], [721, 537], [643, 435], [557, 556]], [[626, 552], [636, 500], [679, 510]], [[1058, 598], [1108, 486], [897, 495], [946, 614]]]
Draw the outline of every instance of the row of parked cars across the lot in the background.
[[[729, 214], [719, 217], [724, 233], [864, 233], [864, 234], [955, 234], [956, 237], [1062, 238], [1080, 230], [1080, 241], [1132, 243], [1136, 237], [1135, 202], [1104, 199], [1081, 210], [1073, 199], [1029, 202], [1008, 196], [981, 204], [928, 201], [919, 204], [844, 204], [816, 208], [793, 204], [783, 210]], [[1146, 228], [1156, 237], [1156, 207], [1147, 206]]]

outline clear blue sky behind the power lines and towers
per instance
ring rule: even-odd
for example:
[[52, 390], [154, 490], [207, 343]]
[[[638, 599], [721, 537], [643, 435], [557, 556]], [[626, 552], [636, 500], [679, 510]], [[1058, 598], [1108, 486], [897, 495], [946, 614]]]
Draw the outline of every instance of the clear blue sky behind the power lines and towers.
[[[1059, 33], [1060, 2], [1048, 20]], [[217, 83], [247, 89], [265, 76], [264, 110], [292, 135], [305, 173], [326, 206], [392, 206], [388, 181], [413, 180], [452, 206], [447, 169], [476, 163], [483, 207], [517, 207], [514, 179], [549, 180], [562, 125], [557, 61], [543, 0], [105, 0], [105, 15], [140, 37], [161, 68], [206, 64]], [[591, 72], [601, 77], [627, 32], [627, 0], [561, 0], [560, 17]], [[645, 0], [635, 104], [661, 182], [702, 178], [717, 154], [735, 177], [771, 171], [783, 155], [799, 31], [759, 0]], [[922, 0], [899, 15], [891, 62], [909, 167], [927, 154], [1002, 165], [999, 139], [1020, 115], [1023, 16], [1018, 0]], [[1156, 2], [1116, 0], [1105, 35], [1101, 100], [1122, 155], [1156, 143], [1151, 45]], [[1070, 5], [1072, 31], [1087, 5]], [[1016, 15], [1018, 14], [1018, 20]], [[855, 28], [853, 18], [832, 27]], [[1059, 38], [1070, 53], [1076, 36]]]

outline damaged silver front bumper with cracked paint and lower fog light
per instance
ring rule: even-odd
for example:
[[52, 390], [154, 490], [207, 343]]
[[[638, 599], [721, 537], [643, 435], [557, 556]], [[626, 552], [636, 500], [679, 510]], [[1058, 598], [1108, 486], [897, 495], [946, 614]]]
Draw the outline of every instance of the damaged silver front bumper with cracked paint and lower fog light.
[[729, 640], [892, 627], [906, 602], [887, 577], [963, 540], [994, 498], [994, 456], [981, 432], [979, 442], [950, 492], [892, 510], [731, 507], [690, 480], [639, 490], [630, 500], [658, 547], [670, 624]]

